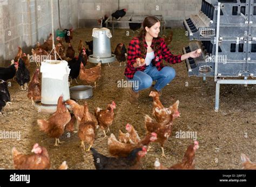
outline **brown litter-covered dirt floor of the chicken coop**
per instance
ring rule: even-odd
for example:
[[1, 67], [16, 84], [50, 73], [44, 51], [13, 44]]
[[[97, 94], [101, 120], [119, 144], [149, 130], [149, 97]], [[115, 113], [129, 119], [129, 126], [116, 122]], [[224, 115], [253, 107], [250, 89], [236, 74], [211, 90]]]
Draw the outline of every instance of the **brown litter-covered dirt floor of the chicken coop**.
[[[112, 51], [120, 42], [127, 46], [130, 40], [137, 35], [127, 30], [117, 29], [111, 39]], [[167, 33], [170, 30], [166, 31]], [[75, 31], [73, 47], [77, 51], [79, 39], [90, 41], [92, 30], [77, 29]], [[181, 54], [182, 48], [187, 46], [188, 39], [182, 28], [173, 29], [173, 41], [169, 46], [173, 54]], [[89, 64], [87, 67], [92, 67]], [[241, 169], [240, 154], [245, 153], [251, 161], [256, 162], [255, 125], [256, 125], [256, 86], [248, 85], [221, 85], [220, 109], [214, 112], [215, 83], [213, 78], [207, 78], [203, 83], [202, 78], [188, 77], [185, 63], [171, 65], [176, 69], [176, 78], [163, 90], [163, 97], [168, 100], [167, 106], [179, 99], [181, 117], [174, 121], [171, 138], [165, 144], [167, 159], [161, 157], [158, 143], [151, 144], [150, 152], [143, 159], [144, 169], [154, 169], [154, 161], [159, 158], [165, 166], [172, 166], [183, 159], [183, 155], [192, 139], [178, 139], [176, 132], [197, 132], [199, 149], [196, 153], [196, 169]], [[31, 77], [36, 64], [31, 64]], [[93, 90], [93, 97], [87, 99], [91, 112], [96, 107], [105, 108], [112, 100], [116, 102], [115, 117], [111, 133], [118, 135], [118, 130], [125, 131], [127, 123], [132, 124], [139, 135], [145, 134], [144, 116], [151, 116], [152, 103], [149, 90], [140, 93], [139, 106], [133, 106], [127, 101], [128, 89], [118, 88], [117, 81], [124, 78], [125, 67], [119, 67], [118, 62], [111, 67], [104, 64], [102, 78]], [[79, 80], [78, 80], [79, 81]], [[29, 154], [34, 143], [48, 149], [51, 168], [56, 169], [63, 162], [68, 163], [69, 169], [95, 169], [90, 152], [84, 152], [79, 146], [77, 134], [65, 133], [60, 141], [65, 141], [60, 147], [53, 147], [55, 140], [49, 138], [38, 130], [37, 119], [47, 119], [50, 114], [38, 113], [27, 98], [27, 91], [19, 90], [18, 84], [10, 80], [9, 87], [12, 105], [5, 107], [0, 118], [0, 131], [19, 131], [21, 140], [0, 139], [0, 168], [14, 169], [11, 149], [16, 147], [20, 152]], [[71, 86], [76, 85], [72, 84]], [[187, 86], [186, 86], [187, 85]], [[82, 104], [83, 100], [78, 103]], [[70, 136], [69, 136], [70, 135]], [[99, 140], [103, 136], [98, 133], [94, 147], [98, 152], [109, 155], [107, 139]]]

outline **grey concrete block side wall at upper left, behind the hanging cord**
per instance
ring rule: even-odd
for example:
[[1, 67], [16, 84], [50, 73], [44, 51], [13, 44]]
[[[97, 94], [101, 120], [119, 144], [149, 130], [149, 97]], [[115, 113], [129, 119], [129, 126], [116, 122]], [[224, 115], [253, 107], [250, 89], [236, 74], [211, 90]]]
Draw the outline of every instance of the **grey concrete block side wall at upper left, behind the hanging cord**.
[[[59, 0], [62, 28], [78, 27], [78, 0]], [[59, 28], [58, 1], [53, 0], [53, 22]], [[50, 0], [0, 0], [0, 67], [8, 66], [21, 46], [31, 47], [52, 32]], [[56, 33], [56, 32], [55, 32]]]

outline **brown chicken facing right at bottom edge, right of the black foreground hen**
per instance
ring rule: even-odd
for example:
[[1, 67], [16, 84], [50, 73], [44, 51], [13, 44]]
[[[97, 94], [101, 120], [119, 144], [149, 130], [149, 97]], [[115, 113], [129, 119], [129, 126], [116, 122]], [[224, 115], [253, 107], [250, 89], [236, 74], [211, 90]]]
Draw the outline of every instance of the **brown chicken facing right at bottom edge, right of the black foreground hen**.
[[199, 148], [198, 141], [194, 141], [192, 145], [188, 146], [186, 153], [183, 157], [183, 160], [180, 163], [174, 164], [170, 168], [166, 168], [157, 159], [156, 162], [154, 162], [154, 167], [155, 169], [194, 169], [194, 166], [195, 166], [194, 157], [195, 157], [196, 150], [198, 148]]

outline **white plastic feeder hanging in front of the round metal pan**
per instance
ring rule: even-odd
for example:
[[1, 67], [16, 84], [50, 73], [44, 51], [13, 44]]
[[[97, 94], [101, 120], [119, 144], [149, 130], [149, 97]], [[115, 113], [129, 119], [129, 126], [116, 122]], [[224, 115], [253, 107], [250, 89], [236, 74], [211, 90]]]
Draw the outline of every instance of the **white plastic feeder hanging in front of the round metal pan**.
[[37, 108], [41, 112], [55, 112], [59, 96], [63, 101], [70, 99], [68, 62], [45, 60], [40, 69], [42, 73], [41, 103]]

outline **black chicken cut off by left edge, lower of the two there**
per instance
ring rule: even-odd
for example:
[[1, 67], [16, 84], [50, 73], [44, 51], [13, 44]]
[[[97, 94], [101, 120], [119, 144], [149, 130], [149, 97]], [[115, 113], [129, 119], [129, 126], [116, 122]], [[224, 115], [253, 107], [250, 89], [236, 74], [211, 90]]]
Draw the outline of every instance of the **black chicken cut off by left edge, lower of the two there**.
[[11, 101], [10, 93], [8, 91], [7, 83], [4, 80], [0, 80], [0, 114], [2, 114], [3, 107], [9, 106]]

